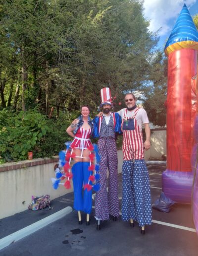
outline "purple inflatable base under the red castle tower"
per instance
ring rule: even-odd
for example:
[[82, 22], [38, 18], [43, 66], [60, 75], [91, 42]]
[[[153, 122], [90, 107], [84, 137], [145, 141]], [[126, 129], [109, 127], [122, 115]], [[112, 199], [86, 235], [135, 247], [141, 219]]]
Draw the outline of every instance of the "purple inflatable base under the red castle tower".
[[162, 191], [177, 203], [191, 203], [192, 172], [166, 170], [162, 173]]

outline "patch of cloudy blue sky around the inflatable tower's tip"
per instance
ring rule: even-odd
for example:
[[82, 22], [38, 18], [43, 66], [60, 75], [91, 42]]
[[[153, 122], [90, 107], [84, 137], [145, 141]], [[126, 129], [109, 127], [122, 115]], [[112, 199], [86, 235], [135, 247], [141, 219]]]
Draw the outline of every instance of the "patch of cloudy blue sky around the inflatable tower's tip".
[[184, 3], [192, 17], [198, 14], [198, 0], [144, 0], [145, 17], [150, 21], [149, 30], [158, 31], [158, 47], [162, 50]]

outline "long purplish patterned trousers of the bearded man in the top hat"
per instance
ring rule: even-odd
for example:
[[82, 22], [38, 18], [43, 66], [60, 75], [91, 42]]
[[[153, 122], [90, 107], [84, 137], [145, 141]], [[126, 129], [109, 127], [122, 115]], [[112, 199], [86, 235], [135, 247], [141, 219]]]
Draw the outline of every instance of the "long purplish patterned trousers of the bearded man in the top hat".
[[[95, 212], [99, 220], [107, 220], [109, 215], [119, 217], [118, 159], [115, 139], [99, 138], [98, 148], [100, 190], [96, 193]], [[107, 168], [109, 171], [108, 192], [106, 191]]]

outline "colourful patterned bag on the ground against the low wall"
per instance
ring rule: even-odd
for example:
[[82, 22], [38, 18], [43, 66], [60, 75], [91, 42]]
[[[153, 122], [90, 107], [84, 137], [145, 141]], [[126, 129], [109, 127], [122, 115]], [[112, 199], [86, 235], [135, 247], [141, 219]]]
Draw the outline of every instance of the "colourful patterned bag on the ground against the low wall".
[[32, 202], [28, 206], [28, 209], [33, 210], [33, 211], [37, 211], [37, 210], [42, 210], [42, 209], [46, 208], [47, 206], [49, 208], [51, 208], [49, 206], [49, 202], [50, 202], [50, 195], [49, 194], [45, 194], [45, 195], [37, 196], [37, 197], [32, 196]]

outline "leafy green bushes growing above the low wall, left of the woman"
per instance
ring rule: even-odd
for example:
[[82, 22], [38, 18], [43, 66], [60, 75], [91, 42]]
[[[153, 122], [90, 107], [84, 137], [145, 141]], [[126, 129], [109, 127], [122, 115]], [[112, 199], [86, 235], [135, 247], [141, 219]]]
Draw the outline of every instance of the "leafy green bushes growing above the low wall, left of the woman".
[[33, 151], [34, 158], [57, 154], [71, 140], [65, 129], [76, 116], [62, 113], [53, 120], [37, 110], [0, 111], [0, 163], [26, 160], [28, 151]]

